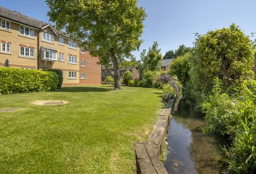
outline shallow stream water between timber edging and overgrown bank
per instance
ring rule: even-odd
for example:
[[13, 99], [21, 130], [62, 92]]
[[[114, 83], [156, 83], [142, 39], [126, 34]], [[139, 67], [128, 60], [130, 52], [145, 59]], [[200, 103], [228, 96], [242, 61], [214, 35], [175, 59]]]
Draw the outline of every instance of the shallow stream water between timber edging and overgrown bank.
[[180, 101], [168, 131], [169, 153], [164, 163], [168, 173], [221, 173], [219, 160], [227, 140], [202, 134], [204, 125], [194, 107]]

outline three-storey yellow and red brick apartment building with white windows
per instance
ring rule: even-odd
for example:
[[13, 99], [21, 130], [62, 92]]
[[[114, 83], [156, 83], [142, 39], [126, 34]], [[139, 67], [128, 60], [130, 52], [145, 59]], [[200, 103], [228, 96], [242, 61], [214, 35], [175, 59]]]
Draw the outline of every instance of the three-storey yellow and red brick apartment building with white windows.
[[63, 85], [101, 84], [101, 65], [89, 50], [51, 24], [0, 7], [0, 66], [60, 69]]

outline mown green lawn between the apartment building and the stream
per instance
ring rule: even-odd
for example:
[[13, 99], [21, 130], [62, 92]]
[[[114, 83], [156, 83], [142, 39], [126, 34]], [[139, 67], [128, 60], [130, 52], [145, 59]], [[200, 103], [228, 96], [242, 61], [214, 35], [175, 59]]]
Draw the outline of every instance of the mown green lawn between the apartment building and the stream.
[[[135, 173], [134, 142], [149, 139], [160, 89], [111, 86], [0, 96], [0, 173]], [[37, 99], [65, 100], [36, 106]]]

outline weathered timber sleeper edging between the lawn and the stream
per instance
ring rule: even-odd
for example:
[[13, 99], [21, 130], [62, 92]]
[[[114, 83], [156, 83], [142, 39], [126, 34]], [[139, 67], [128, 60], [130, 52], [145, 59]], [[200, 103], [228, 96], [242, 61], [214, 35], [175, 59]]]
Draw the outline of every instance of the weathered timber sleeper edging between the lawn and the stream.
[[165, 143], [165, 136], [170, 123], [170, 114], [174, 99], [170, 99], [165, 108], [162, 110], [159, 119], [157, 120], [154, 129], [149, 137], [149, 142], [136, 142], [134, 144], [135, 157], [137, 164], [137, 173], [166, 173], [159, 157]]

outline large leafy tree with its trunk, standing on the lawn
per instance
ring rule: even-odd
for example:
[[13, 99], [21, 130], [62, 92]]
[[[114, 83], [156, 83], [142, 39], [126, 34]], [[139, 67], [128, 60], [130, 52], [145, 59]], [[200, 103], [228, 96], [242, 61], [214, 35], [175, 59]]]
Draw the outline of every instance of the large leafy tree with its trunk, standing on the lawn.
[[50, 21], [65, 29], [81, 47], [114, 67], [115, 89], [121, 89], [119, 63], [139, 48], [146, 17], [137, 0], [46, 0]]

